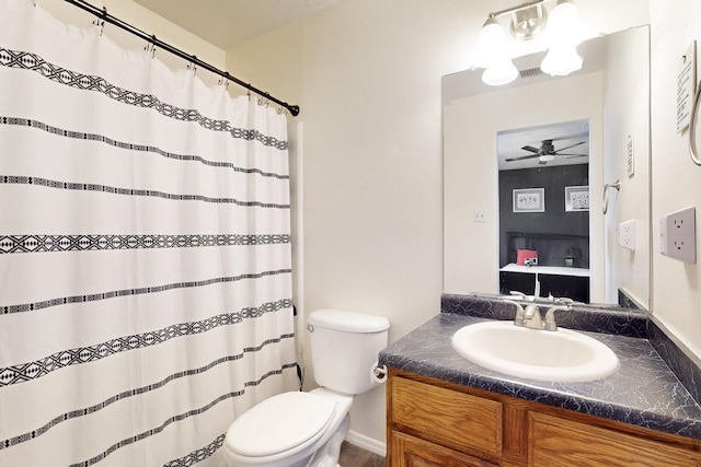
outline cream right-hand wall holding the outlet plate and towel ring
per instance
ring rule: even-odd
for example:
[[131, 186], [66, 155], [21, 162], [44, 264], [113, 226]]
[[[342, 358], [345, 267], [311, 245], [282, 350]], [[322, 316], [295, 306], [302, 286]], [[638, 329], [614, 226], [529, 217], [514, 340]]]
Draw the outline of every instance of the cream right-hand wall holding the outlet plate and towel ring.
[[[701, 2], [651, 0], [653, 152], [653, 310], [701, 357], [701, 256], [696, 265], [659, 254], [659, 218], [693, 206], [697, 241], [701, 167], [689, 159], [687, 133], [676, 131], [677, 72], [692, 39], [701, 40]], [[698, 62], [697, 62], [698, 65]], [[701, 73], [698, 73], [701, 77]]]

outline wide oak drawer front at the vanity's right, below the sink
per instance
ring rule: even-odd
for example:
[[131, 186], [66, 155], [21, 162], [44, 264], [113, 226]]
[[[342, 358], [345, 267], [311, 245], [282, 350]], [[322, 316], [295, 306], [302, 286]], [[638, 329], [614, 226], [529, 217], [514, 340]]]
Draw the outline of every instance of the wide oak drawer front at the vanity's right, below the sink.
[[529, 466], [701, 467], [701, 454], [538, 412], [528, 415]]

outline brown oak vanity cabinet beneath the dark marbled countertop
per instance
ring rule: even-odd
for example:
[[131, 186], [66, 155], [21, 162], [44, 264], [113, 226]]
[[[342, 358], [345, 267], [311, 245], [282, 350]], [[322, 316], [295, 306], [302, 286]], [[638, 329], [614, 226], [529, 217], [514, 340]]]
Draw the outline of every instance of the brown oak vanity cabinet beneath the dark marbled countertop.
[[701, 467], [701, 442], [390, 369], [388, 467]]

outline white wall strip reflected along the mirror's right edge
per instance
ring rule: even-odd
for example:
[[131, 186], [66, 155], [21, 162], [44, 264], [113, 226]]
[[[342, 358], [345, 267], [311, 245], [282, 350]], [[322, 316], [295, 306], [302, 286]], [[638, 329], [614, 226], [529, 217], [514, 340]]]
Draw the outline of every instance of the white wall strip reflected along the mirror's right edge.
[[[605, 82], [604, 132], [607, 154], [604, 183], [620, 182], [619, 191], [609, 189], [606, 215], [607, 295], [605, 303], [618, 303], [618, 288], [650, 308], [650, 51], [647, 31], [637, 27], [609, 38]], [[628, 175], [628, 136], [633, 135], [634, 174]], [[610, 155], [610, 156], [609, 156]], [[601, 197], [600, 187], [593, 190]], [[597, 212], [601, 212], [598, 210]], [[619, 224], [635, 221], [635, 249], [618, 245]]]

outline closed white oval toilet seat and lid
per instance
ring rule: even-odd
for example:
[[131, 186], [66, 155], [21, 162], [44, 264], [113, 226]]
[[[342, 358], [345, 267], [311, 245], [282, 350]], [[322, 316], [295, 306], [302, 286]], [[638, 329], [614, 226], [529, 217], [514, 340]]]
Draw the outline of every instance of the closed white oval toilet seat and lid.
[[227, 447], [242, 456], [272, 456], [317, 441], [333, 420], [333, 399], [290, 392], [263, 400], [235, 419], [227, 431]]

